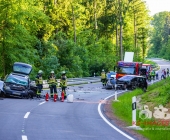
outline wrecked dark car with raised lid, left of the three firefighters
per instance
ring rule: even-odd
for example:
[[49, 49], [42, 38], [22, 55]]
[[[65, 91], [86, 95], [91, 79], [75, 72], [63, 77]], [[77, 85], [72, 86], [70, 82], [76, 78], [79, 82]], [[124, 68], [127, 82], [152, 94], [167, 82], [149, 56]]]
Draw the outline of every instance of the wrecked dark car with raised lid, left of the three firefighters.
[[5, 96], [19, 96], [30, 98], [36, 94], [37, 87], [31, 84], [29, 74], [32, 66], [26, 63], [15, 62], [13, 72], [4, 79], [3, 92]]

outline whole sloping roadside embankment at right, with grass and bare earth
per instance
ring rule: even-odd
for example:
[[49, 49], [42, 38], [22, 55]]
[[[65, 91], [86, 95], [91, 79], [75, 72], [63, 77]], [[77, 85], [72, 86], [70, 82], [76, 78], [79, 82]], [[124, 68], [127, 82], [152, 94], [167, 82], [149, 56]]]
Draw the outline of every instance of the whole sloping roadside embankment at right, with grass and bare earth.
[[135, 130], [149, 140], [170, 138], [170, 78], [156, 82], [147, 92], [140, 89], [119, 96], [120, 102], [112, 102], [113, 114], [124, 122], [124, 127], [132, 126], [132, 97], [137, 97], [136, 125], [143, 131]]

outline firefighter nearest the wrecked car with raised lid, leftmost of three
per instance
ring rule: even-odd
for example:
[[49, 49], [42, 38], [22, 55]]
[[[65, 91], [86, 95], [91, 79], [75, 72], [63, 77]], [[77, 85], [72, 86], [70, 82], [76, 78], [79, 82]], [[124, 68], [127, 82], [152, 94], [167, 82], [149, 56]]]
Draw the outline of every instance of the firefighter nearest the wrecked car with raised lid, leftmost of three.
[[42, 78], [42, 73], [43, 71], [42, 70], [39, 70], [38, 71], [38, 74], [35, 78], [35, 83], [36, 83], [36, 86], [37, 86], [37, 98], [40, 98], [40, 95], [41, 95], [41, 91], [43, 89], [43, 78]]

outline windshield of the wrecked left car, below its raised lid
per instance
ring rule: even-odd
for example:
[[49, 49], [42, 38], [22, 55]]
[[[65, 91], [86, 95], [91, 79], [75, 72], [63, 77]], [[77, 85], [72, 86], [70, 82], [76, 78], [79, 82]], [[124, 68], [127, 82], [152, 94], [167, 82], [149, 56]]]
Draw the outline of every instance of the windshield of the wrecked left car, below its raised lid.
[[19, 84], [22, 86], [28, 85], [28, 79], [26, 77], [18, 76], [18, 75], [9, 75], [5, 82]]

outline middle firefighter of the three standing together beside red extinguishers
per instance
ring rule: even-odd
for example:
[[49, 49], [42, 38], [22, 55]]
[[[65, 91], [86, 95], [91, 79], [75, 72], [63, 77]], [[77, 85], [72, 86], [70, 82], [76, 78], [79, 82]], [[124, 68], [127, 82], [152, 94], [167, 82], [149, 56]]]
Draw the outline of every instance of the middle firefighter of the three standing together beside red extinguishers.
[[50, 88], [50, 96], [53, 98], [54, 94], [57, 95], [57, 80], [54, 71], [51, 71], [50, 76], [48, 77], [48, 84]]

